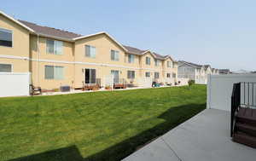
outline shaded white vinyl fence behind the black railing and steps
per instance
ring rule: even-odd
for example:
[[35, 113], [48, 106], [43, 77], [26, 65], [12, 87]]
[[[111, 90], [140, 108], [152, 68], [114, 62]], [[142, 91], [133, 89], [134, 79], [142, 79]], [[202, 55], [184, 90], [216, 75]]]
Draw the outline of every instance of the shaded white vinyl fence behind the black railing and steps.
[[[207, 108], [214, 108], [224, 111], [230, 111], [231, 95], [234, 83], [250, 82], [256, 83], [256, 74], [229, 74], [229, 75], [209, 75], [207, 83]], [[248, 98], [250, 90], [241, 85], [241, 102], [243, 98]], [[251, 101], [251, 100], [249, 100]]]

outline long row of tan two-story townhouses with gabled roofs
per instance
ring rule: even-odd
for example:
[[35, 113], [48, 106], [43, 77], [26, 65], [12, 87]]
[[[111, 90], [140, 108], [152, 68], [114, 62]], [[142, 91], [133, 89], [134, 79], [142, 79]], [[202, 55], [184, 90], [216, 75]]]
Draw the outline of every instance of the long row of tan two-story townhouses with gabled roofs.
[[107, 32], [87, 36], [24, 20], [0, 11], [0, 72], [30, 72], [32, 84], [42, 89], [125, 80], [143, 85], [177, 81], [177, 62], [170, 55], [136, 49]]

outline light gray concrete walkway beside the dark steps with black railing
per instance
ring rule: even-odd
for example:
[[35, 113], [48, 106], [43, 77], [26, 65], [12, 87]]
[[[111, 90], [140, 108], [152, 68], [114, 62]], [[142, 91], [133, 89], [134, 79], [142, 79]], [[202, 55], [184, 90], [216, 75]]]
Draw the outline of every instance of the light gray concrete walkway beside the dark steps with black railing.
[[123, 161], [255, 161], [256, 149], [230, 138], [230, 112], [206, 109]]

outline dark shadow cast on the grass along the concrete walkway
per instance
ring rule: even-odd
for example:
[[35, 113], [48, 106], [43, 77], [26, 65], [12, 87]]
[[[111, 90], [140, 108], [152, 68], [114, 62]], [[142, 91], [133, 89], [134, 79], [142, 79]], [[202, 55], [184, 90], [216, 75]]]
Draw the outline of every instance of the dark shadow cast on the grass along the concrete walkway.
[[206, 108], [206, 104], [189, 104], [184, 106], [172, 107], [162, 113], [158, 118], [165, 119], [165, 122], [152, 129], [143, 131], [125, 141], [119, 142], [113, 147], [108, 147], [102, 152], [97, 152], [87, 158], [83, 158], [76, 146], [64, 147], [49, 152], [42, 152], [24, 158], [15, 158], [9, 161], [98, 161], [98, 160], [121, 160], [140, 147], [154, 141], [160, 135], [165, 134], [178, 124], [182, 124], [192, 118], [198, 112]]

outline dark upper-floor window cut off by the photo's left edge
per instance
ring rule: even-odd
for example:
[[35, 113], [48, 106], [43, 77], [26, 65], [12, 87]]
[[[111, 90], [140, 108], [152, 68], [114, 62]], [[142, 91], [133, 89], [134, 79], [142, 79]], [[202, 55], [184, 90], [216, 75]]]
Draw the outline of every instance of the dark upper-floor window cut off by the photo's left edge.
[[13, 47], [13, 32], [0, 28], [0, 46]]

